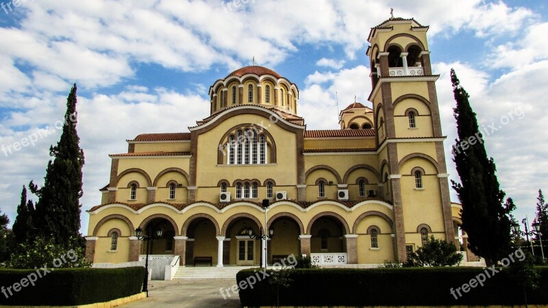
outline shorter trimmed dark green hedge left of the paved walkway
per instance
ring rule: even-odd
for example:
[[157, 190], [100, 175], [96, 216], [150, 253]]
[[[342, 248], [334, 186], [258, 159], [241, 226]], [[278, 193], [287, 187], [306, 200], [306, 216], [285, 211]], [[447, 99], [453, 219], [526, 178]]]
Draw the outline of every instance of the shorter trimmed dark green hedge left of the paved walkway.
[[[102, 303], [140, 293], [145, 279], [145, 268], [140, 266], [59, 268], [42, 278], [38, 277], [34, 286], [29, 284], [14, 292], [14, 283], [21, 283], [32, 273], [36, 274], [36, 270], [0, 270], [0, 287], [3, 287], [0, 305], [73, 306]], [[12, 296], [8, 287], [12, 287]]]

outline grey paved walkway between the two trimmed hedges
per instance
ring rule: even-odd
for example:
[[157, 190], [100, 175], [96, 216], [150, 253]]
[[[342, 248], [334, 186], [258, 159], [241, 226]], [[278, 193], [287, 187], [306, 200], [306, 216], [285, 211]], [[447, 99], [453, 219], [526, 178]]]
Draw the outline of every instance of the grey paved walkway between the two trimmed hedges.
[[226, 299], [219, 288], [229, 288], [236, 279], [204, 279], [150, 281], [149, 297], [123, 307], [241, 307], [238, 294], [230, 294]]

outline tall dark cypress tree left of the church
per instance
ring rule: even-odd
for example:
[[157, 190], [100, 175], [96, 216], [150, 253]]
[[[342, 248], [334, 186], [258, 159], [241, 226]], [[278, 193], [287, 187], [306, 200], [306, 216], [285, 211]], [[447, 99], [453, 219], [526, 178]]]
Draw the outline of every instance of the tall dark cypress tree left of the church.
[[79, 199], [82, 197], [82, 166], [84, 152], [79, 147], [76, 131], [76, 84], [66, 99], [63, 131], [56, 146], [51, 146], [44, 186], [38, 188], [31, 182], [30, 190], [38, 196], [35, 225], [38, 235], [53, 236], [58, 244], [71, 244], [69, 238], [77, 239], [80, 229]]

